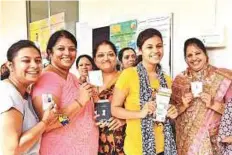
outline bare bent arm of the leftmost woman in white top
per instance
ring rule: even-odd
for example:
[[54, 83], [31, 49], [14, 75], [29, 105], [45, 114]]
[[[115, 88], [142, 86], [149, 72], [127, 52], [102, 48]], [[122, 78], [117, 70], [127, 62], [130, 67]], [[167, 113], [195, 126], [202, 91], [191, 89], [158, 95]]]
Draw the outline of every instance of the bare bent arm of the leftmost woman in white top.
[[46, 123], [41, 121], [33, 128], [22, 133], [23, 115], [11, 108], [1, 114], [3, 154], [16, 155], [30, 149], [46, 129]]

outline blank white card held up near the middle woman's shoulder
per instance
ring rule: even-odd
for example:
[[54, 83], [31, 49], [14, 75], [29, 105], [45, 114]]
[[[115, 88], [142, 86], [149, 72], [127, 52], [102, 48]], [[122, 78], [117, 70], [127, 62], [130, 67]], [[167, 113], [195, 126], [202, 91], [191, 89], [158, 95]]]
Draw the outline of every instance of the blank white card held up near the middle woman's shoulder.
[[102, 71], [89, 71], [89, 83], [95, 86], [103, 86]]

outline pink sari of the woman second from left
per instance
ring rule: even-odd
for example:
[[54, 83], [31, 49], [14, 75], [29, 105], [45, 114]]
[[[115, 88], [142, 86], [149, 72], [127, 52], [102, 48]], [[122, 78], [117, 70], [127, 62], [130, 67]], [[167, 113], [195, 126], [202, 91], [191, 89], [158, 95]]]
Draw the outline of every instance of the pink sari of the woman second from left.
[[[42, 74], [35, 84], [32, 96], [50, 93], [60, 99], [60, 108], [72, 103], [77, 96], [79, 83], [69, 73], [67, 80], [53, 72]], [[89, 102], [70, 124], [45, 133], [41, 140], [41, 155], [97, 155], [99, 131], [93, 120], [93, 103]]]

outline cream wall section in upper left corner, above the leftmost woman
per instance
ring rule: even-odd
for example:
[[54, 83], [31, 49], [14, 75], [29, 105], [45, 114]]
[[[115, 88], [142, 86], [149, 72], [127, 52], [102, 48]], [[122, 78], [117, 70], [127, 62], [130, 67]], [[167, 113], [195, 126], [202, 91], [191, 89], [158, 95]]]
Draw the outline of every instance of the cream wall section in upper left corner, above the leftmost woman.
[[0, 65], [7, 49], [20, 39], [27, 39], [25, 0], [0, 0]]

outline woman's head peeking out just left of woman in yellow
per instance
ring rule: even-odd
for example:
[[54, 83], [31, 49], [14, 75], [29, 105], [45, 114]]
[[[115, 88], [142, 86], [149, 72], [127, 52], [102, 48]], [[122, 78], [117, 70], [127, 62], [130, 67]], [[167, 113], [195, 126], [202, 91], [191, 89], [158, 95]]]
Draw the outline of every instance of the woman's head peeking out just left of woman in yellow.
[[121, 69], [136, 65], [136, 53], [133, 48], [125, 47], [118, 53], [118, 60], [121, 62]]

